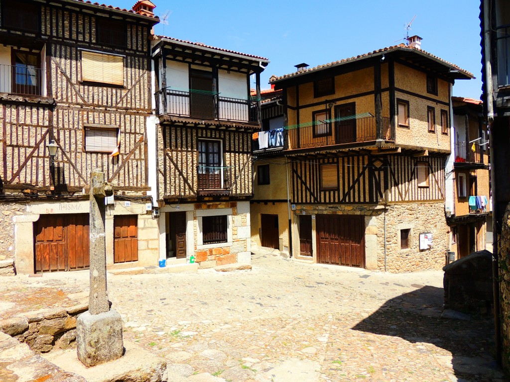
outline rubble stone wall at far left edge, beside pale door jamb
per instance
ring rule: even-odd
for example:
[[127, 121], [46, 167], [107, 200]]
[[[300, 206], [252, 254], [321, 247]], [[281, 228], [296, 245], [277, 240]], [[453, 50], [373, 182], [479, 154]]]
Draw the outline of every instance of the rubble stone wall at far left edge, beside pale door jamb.
[[12, 218], [25, 212], [20, 203], [1, 203], [0, 209], [0, 276], [14, 276], [14, 222]]

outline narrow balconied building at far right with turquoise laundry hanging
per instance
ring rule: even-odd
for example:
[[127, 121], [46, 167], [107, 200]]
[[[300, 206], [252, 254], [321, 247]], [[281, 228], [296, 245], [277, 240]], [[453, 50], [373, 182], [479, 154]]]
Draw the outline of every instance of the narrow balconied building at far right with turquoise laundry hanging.
[[[487, 219], [491, 215], [489, 135], [482, 102], [452, 97], [451, 155], [446, 182], [446, 221], [450, 227], [449, 261], [486, 249]], [[448, 187], [447, 187], [448, 188]]]

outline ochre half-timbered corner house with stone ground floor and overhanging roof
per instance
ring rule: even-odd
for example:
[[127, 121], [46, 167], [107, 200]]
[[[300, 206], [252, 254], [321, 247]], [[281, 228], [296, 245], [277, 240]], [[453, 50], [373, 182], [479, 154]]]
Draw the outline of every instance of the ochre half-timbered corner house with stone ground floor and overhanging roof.
[[283, 91], [284, 150], [254, 155], [288, 161], [291, 256], [395, 272], [445, 264], [451, 90], [473, 76], [420, 42], [270, 81]]

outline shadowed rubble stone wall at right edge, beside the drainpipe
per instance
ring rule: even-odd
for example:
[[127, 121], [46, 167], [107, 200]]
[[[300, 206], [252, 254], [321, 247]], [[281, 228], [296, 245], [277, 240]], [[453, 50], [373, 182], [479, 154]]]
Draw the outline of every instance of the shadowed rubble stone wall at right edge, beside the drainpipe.
[[510, 370], [510, 204], [506, 206], [498, 238], [499, 303], [503, 367]]

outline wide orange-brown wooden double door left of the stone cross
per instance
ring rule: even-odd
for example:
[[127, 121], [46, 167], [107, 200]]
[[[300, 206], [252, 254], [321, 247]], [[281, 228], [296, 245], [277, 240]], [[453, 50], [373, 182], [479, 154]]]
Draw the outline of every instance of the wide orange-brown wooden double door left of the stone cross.
[[36, 273], [89, 267], [87, 213], [41, 215], [34, 236]]

